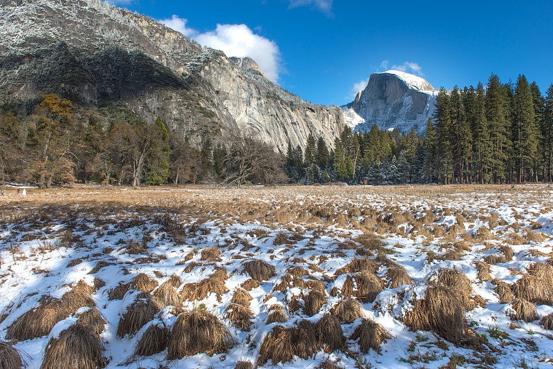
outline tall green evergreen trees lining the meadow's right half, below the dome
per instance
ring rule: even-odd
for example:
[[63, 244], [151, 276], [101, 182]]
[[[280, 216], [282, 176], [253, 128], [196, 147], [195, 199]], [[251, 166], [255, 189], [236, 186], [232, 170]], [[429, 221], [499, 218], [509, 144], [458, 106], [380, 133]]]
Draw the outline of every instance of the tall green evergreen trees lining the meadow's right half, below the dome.
[[346, 127], [330, 151], [310, 137], [303, 161], [299, 146], [286, 155], [288, 176], [305, 183], [551, 182], [552, 165], [553, 84], [543, 96], [524, 75], [514, 84], [492, 74], [486, 87], [441, 88], [424, 138], [413, 129]]

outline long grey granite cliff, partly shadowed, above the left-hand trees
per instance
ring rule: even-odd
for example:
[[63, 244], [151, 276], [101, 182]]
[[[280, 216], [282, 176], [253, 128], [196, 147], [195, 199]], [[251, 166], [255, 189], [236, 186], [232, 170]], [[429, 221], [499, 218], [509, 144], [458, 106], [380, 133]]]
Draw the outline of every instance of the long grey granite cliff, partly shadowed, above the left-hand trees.
[[91, 107], [122, 100], [191, 140], [250, 131], [281, 152], [310, 133], [332, 144], [345, 124], [338, 106], [284, 91], [252, 59], [148, 17], [99, 0], [0, 0], [0, 102], [30, 110], [42, 93]]

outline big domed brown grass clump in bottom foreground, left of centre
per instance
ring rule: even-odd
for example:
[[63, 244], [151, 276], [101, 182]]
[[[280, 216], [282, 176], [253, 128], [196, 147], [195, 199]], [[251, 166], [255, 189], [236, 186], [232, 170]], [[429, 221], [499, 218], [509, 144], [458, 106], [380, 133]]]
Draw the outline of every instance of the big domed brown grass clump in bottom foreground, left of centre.
[[199, 354], [212, 355], [227, 351], [234, 345], [229, 330], [216, 316], [202, 309], [194, 309], [178, 316], [175, 321], [167, 359], [175, 360]]

